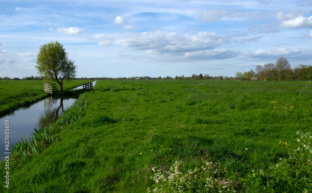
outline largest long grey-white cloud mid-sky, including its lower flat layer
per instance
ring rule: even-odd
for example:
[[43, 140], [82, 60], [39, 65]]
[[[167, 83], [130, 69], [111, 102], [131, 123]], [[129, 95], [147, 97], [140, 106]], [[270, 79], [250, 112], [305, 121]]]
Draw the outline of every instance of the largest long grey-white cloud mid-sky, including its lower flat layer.
[[[98, 45], [119, 46], [125, 50], [140, 50], [149, 59], [178, 56], [181, 60], [223, 59], [231, 51], [218, 49], [222, 44], [230, 42], [230, 38], [212, 32], [196, 32], [180, 34], [156, 30], [154, 32], [97, 34]], [[129, 56], [129, 53], [127, 54]], [[143, 57], [143, 56], [142, 56]]]

